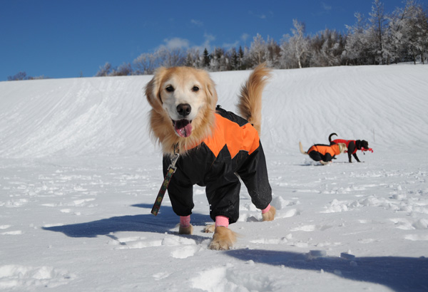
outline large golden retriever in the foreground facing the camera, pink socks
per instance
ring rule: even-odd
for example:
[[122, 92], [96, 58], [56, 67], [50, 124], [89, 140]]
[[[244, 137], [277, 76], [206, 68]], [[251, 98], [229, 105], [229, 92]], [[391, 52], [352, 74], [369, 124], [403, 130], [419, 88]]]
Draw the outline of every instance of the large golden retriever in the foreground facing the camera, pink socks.
[[240, 116], [216, 104], [215, 84], [203, 70], [189, 67], [159, 68], [146, 85], [152, 109], [150, 129], [163, 150], [163, 172], [179, 153], [177, 170], [168, 186], [179, 234], [192, 234], [190, 214], [193, 185], [205, 186], [210, 217], [215, 221], [210, 249], [230, 249], [235, 233], [228, 229], [239, 217], [240, 181], [263, 221], [273, 220], [271, 188], [260, 143], [262, 93], [270, 69], [262, 64], [241, 88]]

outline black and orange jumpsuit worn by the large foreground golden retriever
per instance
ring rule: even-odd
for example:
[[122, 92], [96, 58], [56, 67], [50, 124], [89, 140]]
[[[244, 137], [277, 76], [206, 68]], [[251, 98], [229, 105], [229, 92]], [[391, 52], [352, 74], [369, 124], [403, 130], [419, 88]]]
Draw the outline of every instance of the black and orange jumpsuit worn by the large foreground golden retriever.
[[[213, 135], [180, 155], [168, 195], [175, 214], [188, 216], [194, 207], [193, 185], [206, 187], [210, 217], [215, 221], [215, 217], [225, 216], [232, 224], [239, 217], [240, 179], [258, 209], [270, 204], [272, 189], [257, 130], [247, 120], [219, 107], [215, 119]], [[170, 162], [165, 155], [164, 174]]]

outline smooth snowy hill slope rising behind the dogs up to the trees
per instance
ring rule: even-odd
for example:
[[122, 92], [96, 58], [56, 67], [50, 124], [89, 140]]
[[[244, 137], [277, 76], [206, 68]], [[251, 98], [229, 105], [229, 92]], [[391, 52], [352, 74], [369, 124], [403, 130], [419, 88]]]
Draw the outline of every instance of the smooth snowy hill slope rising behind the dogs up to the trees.
[[[219, 104], [235, 110], [245, 72], [213, 73]], [[0, 157], [142, 155], [150, 76], [0, 83]], [[282, 152], [331, 132], [371, 145], [428, 141], [427, 66], [275, 71], [263, 104], [263, 142]], [[144, 150], [144, 151], [142, 151]]]

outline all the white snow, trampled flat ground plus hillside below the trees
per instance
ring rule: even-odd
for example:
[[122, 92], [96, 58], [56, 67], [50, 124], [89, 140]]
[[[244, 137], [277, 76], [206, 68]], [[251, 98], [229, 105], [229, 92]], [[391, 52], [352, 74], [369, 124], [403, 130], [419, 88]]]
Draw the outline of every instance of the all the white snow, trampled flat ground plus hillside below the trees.
[[[249, 73], [211, 74], [223, 108]], [[201, 187], [192, 236], [168, 197], [150, 214], [150, 78], [0, 83], [0, 290], [428, 291], [428, 66], [274, 71], [262, 142], [277, 218], [261, 222], [243, 188], [230, 251], [208, 249]], [[331, 132], [374, 153], [300, 154]]]

